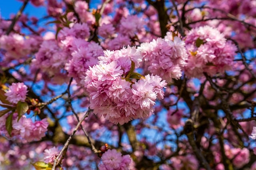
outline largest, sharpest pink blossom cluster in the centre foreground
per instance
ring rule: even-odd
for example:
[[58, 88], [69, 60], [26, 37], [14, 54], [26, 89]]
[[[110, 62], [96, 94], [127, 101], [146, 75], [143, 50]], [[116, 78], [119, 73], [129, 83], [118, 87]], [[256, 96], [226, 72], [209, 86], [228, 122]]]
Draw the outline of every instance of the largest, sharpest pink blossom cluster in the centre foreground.
[[150, 75], [132, 82], [132, 74], [139, 75], [131, 71], [131, 66], [132, 63], [136, 63], [135, 68], [140, 65], [140, 50], [128, 46], [104, 51], [104, 56], [98, 58], [98, 64], [86, 71], [84, 85], [94, 113], [116, 124], [152, 114], [156, 99], [163, 98], [162, 88], [166, 83], [159, 76]]

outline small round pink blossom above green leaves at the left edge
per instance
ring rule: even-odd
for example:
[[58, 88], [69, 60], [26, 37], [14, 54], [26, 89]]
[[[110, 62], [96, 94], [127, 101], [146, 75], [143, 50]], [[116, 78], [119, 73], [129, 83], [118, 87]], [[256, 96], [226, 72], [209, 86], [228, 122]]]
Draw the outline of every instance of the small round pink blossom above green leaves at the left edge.
[[19, 101], [25, 102], [28, 87], [22, 83], [12, 83], [9, 90], [4, 94], [7, 96], [7, 100], [13, 104], [17, 104]]

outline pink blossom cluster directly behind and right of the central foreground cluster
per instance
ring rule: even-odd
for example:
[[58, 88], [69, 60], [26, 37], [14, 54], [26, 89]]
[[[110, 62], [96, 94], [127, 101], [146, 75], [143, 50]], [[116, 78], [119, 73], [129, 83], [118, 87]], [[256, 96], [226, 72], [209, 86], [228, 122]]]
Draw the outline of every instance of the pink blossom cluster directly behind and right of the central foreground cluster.
[[144, 56], [145, 68], [158, 75], [166, 82], [182, 76], [182, 68], [186, 66], [188, 55], [185, 43], [180, 37], [167, 33], [164, 39], [154, 39], [150, 43], [142, 43], [139, 47]]

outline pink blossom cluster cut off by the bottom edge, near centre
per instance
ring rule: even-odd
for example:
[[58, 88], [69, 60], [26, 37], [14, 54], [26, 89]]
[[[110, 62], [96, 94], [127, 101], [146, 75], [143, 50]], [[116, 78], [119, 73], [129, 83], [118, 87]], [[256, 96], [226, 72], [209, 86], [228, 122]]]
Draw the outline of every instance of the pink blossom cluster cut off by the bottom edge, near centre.
[[101, 156], [102, 164], [99, 170], [130, 170], [132, 169], [132, 159], [130, 155], [123, 155], [116, 149], [109, 149]]

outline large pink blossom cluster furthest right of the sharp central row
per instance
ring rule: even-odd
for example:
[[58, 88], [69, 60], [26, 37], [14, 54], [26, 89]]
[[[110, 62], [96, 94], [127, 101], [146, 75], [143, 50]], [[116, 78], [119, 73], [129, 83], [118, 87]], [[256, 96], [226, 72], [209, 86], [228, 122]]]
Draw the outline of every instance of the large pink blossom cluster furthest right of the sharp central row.
[[232, 68], [236, 46], [226, 41], [217, 29], [207, 25], [192, 29], [185, 43], [188, 52], [186, 76], [200, 77], [204, 72], [214, 75]]

